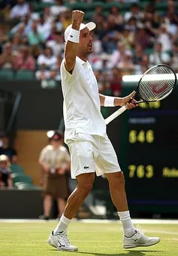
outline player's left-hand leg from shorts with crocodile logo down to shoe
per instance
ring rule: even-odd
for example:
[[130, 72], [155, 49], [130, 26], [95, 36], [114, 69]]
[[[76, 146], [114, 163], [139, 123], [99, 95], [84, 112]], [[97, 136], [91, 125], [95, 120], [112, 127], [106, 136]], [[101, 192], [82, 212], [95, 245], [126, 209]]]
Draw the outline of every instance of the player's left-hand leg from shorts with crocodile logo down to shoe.
[[48, 242], [50, 245], [62, 251], [77, 251], [77, 247], [71, 245], [67, 236], [68, 225], [75, 216], [80, 205], [92, 190], [95, 180], [95, 165], [90, 141], [79, 141], [72, 143], [71, 153], [71, 177], [77, 178], [77, 187], [68, 197], [64, 214], [60, 218], [56, 229], [52, 231]]

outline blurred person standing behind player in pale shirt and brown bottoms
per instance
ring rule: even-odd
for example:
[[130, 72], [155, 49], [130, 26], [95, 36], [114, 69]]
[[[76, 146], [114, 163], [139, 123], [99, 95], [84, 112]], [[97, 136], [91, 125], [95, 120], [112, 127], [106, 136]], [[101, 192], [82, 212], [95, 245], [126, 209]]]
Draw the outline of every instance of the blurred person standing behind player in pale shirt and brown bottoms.
[[49, 220], [52, 198], [57, 200], [59, 217], [65, 208], [68, 187], [65, 173], [70, 165], [68, 150], [62, 146], [62, 135], [55, 132], [50, 144], [41, 151], [39, 163], [44, 171], [44, 215], [41, 219]]

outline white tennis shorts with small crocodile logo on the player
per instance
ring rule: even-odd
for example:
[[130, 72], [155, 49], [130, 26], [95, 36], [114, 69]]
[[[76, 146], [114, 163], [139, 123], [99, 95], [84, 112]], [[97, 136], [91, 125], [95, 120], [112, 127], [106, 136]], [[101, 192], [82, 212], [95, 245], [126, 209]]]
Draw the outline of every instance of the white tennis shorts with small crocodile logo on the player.
[[79, 174], [96, 172], [96, 175], [121, 171], [116, 152], [108, 137], [77, 134], [68, 143], [71, 153], [71, 178]]

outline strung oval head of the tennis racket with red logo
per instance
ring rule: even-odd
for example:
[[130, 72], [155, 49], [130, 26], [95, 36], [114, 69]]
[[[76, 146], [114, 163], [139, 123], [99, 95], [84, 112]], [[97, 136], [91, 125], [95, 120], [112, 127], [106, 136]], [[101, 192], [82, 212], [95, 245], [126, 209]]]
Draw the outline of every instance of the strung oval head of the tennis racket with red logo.
[[146, 101], [160, 100], [170, 94], [175, 80], [175, 73], [169, 66], [154, 66], [140, 80], [140, 97]]

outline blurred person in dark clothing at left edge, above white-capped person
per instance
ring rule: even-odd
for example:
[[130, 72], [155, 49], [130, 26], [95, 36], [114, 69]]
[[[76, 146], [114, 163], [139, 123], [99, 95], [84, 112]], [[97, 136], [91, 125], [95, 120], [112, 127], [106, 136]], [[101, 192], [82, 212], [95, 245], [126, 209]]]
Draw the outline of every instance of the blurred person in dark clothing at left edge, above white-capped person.
[[0, 147], [0, 155], [6, 155], [11, 163], [17, 164], [17, 150], [11, 147], [8, 136], [2, 137], [2, 147]]

